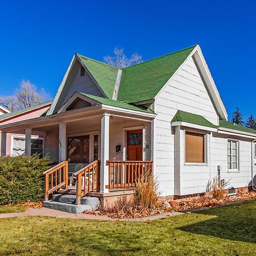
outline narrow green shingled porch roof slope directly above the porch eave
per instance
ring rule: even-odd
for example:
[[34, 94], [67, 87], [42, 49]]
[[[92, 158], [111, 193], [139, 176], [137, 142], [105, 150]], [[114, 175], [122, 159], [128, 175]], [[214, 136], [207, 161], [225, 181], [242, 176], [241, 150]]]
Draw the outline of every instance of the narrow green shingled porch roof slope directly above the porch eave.
[[115, 106], [118, 108], [136, 110], [136, 111], [146, 112], [146, 113], [154, 113], [151, 109], [139, 108], [138, 106], [127, 104], [126, 102], [109, 100], [108, 98], [98, 97], [98, 96], [90, 95], [87, 93], [80, 93], [80, 94], [82, 94], [88, 98], [91, 98], [92, 100], [97, 101], [104, 105]]

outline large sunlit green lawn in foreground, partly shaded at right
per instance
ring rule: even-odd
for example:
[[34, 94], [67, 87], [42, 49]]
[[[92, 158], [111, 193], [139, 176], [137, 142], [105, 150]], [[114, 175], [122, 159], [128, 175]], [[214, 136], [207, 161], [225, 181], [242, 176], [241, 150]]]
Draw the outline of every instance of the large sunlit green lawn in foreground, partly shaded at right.
[[256, 200], [152, 222], [0, 220], [0, 255], [255, 255]]

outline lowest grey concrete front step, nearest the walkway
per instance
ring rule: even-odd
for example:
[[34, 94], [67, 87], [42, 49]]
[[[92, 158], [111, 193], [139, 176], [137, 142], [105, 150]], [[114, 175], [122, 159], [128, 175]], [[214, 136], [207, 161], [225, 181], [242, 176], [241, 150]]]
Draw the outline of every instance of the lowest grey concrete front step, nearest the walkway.
[[70, 213], [81, 213], [85, 210], [92, 210], [92, 207], [88, 204], [67, 204], [56, 201], [44, 201], [44, 207], [54, 210], [61, 210], [62, 212], [70, 212]]

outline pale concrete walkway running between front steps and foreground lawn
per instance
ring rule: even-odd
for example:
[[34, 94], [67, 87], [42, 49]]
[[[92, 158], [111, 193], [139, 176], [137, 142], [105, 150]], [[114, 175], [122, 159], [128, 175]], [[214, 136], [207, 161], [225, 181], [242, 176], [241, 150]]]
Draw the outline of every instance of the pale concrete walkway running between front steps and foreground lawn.
[[142, 217], [142, 218], [110, 218], [108, 216], [100, 216], [94, 214], [84, 214], [84, 213], [68, 213], [61, 212], [60, 210], [53, 210], [48, 208], [28, 208], [26, 212], [22, 213], [2, 213], [0, 218], [12, 218], [12, 217], [27, 217], [27, 216], [44, 216], [44, 217], [56, 217], [56, 218], [81, 218], [84, 220], [109, 220], [109, 221], [151, 221], [158, 220], [160, 218], [167, 218], [170, 216], [176, 216], [183, 214], [181, 212], [163, 213], [156, 214], [154, 216]]

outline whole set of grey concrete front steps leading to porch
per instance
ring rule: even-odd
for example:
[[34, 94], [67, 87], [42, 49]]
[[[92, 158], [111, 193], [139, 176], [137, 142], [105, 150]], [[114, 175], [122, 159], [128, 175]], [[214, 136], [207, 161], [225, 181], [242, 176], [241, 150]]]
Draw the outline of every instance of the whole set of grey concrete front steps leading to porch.
[[76, 205], [76, 196], [67, 194], [52, 195], [52, 200], [44, 201], [44, 207], [62, 210], [63, 212], [81, 213], [85, 210], [96, 210], [100, 200], [98, 197], [84, 196], [81, 198], [81, 204]]

